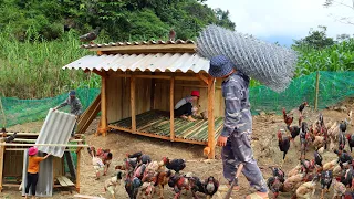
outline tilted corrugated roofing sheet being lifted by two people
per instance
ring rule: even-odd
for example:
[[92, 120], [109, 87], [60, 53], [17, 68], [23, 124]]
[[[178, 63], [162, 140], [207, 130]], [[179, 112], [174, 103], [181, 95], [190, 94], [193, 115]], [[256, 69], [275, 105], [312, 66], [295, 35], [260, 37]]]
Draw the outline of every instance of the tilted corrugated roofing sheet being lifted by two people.
[[[75, 116], [50, 108], [35, 144], [67, 144], [75, 125]], [[39, 150], [63, 157], [65, 147], [39, 146]]]

